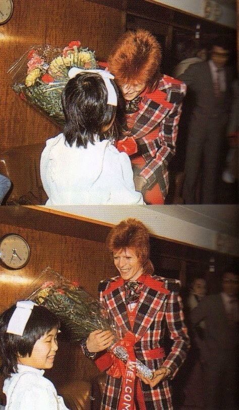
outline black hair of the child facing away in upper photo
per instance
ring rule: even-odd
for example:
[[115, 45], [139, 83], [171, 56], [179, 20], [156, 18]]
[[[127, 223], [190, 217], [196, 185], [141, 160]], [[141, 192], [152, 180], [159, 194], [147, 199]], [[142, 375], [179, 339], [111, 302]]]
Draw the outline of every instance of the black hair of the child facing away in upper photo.
[[[119, 97], [117, 86], [111, 81]], [[117, 107], [107, 104], [108, 92], [100, 74], [84, 72], [71, 78], [62, 94], [62, 105], [66, 119], [64, 135], [70, 146], [87, 147], [94, 144], [94, 135], [100, 140], [109, 138], [103, 127], [110, 124]], [[117, 135], [117, 133], [116, 133]], [[115, 136], [114, 136], [115, 137]]]

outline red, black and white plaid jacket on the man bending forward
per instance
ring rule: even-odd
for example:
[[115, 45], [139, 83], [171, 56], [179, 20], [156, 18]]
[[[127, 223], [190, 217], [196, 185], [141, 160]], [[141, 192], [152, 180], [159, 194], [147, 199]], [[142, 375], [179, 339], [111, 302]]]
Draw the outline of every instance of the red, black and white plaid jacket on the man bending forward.
[[[186, 85], [182, 81], [163, 75], [158, 88], [142, 93], [139, 111], [131, 135], [136, 140], [138, 152], [146, 161], [141, 175], [149, 186], [159, 183], [165, 198], [168, 191], [167, 166], [175, 154], [178, 121]], [[130, 115], [127, 119], [130, 122]]]

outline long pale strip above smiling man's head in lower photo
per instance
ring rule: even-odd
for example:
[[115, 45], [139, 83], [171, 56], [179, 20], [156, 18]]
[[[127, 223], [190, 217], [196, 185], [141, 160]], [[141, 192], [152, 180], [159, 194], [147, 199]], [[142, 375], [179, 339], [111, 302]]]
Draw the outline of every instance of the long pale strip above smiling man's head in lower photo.
[[[167, 212], [170, 207], [171, 212]], [[47, 211], [48, 207], [37, 207], [42, 211]], [[49, 207], [50, 208], [50, 207]], [[185, 220], [183, 210], [178, 215], [180, 206], [173, 205], [135, 205], [135, 206], [114, 206], [101, 205], [92, 206], [61, 206], [51, 208], [53, 211], [67, 213], [68, 216], [80, 216], [93, 221], [103, 222], [106, 225], [114, 225], [126, 218], [137, 218], [149, 228], [150, 232], [159, 237], [181, 243], [187, 243], [199, 248], [218, 251], [228, 255], [238, 256], [238, 239], [232, 235], [221, 233], [220, 221], [211, 226], [198, 225], [197, 213], [191, 211], [191, 221]], [[187, 214], [189, 215], [189, 210]], [[190, 219], [190, 218], [188, 218]], [[206, 218], [207, 221], [208, 218]]]

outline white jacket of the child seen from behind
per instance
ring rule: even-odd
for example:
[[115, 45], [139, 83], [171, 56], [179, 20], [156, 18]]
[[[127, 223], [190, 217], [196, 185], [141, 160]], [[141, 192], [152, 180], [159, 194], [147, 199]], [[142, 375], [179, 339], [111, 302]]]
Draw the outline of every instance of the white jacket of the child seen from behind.
[[143, 204], [135, 190], [129, 156], [108, 140], [72, 147], [59, 134], [46, 141], [40, 173], [46, 205]]

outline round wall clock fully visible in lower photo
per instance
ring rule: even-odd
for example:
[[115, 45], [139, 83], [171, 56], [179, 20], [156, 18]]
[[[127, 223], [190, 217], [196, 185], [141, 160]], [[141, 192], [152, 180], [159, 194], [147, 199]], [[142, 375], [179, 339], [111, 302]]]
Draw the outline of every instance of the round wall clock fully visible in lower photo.
[[0, 240], [0, 260], [11, 269], [25, 266], [30, 257], [30, 248], [25, 239], [15, 233], [10, 233]]

